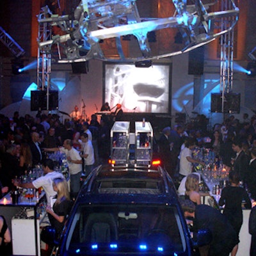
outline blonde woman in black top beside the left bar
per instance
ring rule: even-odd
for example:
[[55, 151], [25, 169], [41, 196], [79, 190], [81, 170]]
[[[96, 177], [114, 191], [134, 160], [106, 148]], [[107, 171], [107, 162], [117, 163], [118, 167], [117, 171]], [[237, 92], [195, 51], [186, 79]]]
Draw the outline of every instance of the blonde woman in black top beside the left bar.
[[65, 179], [54, 179], [52, 188], [57, 192], [57, 198], [52, 208], [51, 206], [47, 206], [46, 211], [48, 212], [52, 227], [56, 229], [56, 238], [58, 239], [70, 212], [72, 202], [70, 201], [68, 184]]

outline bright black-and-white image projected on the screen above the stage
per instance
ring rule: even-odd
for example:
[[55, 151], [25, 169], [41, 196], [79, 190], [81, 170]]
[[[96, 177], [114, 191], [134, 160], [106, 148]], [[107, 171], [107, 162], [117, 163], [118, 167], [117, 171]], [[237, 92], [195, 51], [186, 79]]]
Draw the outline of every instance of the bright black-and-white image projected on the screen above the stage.
[[124, 112], [168, 113], [170, 65], [105, 65], [105, 102]]

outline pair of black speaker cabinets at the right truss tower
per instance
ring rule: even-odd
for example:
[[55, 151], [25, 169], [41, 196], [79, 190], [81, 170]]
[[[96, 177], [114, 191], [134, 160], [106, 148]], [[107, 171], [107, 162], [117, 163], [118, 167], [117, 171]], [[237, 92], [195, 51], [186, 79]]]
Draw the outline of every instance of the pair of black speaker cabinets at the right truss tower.
[[[223, 99], [223, 113], [240, 113], [240, 93], [225, 93]], [[211, 94], [211, 112], [222, 112], [222, 93]]]

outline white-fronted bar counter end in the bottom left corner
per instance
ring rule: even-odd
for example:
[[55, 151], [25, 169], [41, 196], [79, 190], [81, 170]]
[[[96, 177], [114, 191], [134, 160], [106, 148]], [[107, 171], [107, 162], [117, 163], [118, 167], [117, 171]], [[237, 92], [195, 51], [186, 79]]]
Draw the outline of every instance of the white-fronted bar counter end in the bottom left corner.
[[13, 255], [40, 256], [40, 225], [46, 216], [45, 193], [37, 195], [35, 189], [21, 192], [17, 204], [12, 203], [11, 193], [1, 198], [0, 213], [12, 232]]

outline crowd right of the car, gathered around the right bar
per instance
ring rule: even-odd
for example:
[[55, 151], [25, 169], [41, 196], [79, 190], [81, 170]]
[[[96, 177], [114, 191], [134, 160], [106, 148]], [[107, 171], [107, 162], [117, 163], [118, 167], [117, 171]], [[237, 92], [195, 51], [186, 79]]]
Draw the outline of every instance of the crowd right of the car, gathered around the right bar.
[[[223, 164], [229, 172], [229, 186], [221, 190], [218, 202], [220, 206], [225, 205], [223, 214], [212, 207], [201, 206], [200, 175], [198, 177], [196, 171], [198, 167], [204, 169], [205, 162], [204, 158], [194, 157], [195, 149], [210, 150], [214, 163]], [[248, 119], [244, 114], [243, 120], [230, 115], [223, 124], [214, 124], [211, 131], [206, 129], [205, 123], [177, 124], [173, 129], [165, 127], [159, 138], [159, 152], [164, 168], [176, 181], [182, 204], [185, 202], [185, 216], [193, 218], [195, 230], [209, 228], [212, 232], [211, 245], [201, 248], [200, 255], [236, 255], [243, 224], [242, 202], [243, 207], [250, 209], [256, 200], [256, 115]], [[249, 230], [252, 234], [250, 255], [255, 255], [254, 209]]]

